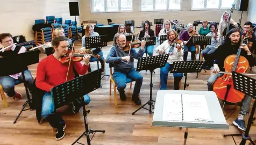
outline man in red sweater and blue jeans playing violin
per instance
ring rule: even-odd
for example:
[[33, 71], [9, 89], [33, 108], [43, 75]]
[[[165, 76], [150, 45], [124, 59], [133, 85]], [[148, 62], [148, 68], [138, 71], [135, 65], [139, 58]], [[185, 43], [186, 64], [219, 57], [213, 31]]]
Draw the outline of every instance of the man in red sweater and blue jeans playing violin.
[[[46, 91], [45, 95], [42, 97], [42, 111], [41, 116], [49, 122], [49, 124], [56, 128], [56, 140], [61, 140], [65, 136], [64, 129], [66, 128], [66, 123], [62, 119], [60, 114], [54, 112], [54, 102], [51, 95], [51, 89], [59, 84], [70, 81], [74, 78], [73, 68], [78, 74], [86, 74], [89, 67], [90, 56], [84, 56], [84, 64], [80, 62], [72, 61], [70, 63], [68, 72], [68, 63], [61, 63], [61, 56], [67, 54], [68, 52], [68, 39], [66, 37], [55, 37], [52, 40], [52, 46], [55, 52], [46, 58], [42, 59], [37, 67], [37, 78], [35, 85], [37, 88]], [[68, 72], [68, 76], [67, 76]], [[89, 104], [90, 97], [84, 95], [84, 102]], [[78, 113], [80, 110], [80, 104], [75, 100], [72, 102], [73, 112]]]

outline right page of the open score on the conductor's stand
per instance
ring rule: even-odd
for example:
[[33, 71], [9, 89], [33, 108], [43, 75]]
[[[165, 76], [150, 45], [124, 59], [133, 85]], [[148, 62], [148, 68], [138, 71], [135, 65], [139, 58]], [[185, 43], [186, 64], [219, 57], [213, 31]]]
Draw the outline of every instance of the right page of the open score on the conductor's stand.
[[183, 94], [183, 121], [211, 121], [204, 95]]

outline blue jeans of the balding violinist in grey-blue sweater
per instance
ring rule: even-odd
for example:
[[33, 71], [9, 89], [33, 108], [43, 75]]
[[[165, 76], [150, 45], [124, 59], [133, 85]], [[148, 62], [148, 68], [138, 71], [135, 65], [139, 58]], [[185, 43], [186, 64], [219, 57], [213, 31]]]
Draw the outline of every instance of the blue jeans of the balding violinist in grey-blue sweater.
[[126, 79], [131, 78], [132, 81], [135, 81], [133, 95], [138, 96], [140, 93], [140, 88], [143, 82], [143, 76], [138, 72], [135, 71], [135, 68], [126, 69], [121, 71], [114, 71], [113, 79], [117, 85], [118, 91], [123, 91], [126, 88]]

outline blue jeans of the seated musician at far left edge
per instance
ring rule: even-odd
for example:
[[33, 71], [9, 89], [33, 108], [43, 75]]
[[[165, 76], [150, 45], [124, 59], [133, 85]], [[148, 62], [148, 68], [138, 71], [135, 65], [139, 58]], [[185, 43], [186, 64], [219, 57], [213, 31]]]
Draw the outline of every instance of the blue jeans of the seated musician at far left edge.
[[[32, 94], [32, 87], [33, 87], [33, 77], [31, 75], [30, 70], [24, 71], [25, 80], [28, 83], [27, 87], [30, 90], [30, 93]], [[0, 84], [3, 86], [3, 90], [6, 93], [7, 96], [13, 97], [15, 96], [15, 85], [19, 82], [23, 82], [23, 76], [22, 74], [18, 77], [18, 79], [12, 78], [10, 76], [3, 76], [0, 77]]]

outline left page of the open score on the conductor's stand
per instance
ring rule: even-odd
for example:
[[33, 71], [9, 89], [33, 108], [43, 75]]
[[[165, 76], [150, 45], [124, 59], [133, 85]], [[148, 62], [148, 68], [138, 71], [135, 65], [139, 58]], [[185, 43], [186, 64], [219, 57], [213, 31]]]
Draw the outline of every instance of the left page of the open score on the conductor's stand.
[[162, 120], [182, 121], [181, 94], [165, 94]]

